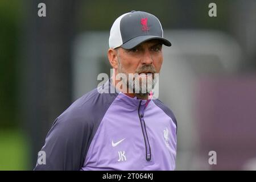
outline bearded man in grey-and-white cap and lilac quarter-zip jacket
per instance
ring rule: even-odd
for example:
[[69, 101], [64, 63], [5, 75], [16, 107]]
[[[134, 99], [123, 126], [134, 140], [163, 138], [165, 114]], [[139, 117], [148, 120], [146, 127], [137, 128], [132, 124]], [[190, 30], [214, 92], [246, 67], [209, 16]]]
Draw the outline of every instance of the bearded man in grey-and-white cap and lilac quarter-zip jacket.
[[[171, 46], [154, 15], [131, 11], [119, 16], [109, 37], [112, 79], [56, 118], [42, 148], [45, 164], [36, 164], [35, 170], [174, 170], [176, 119], [152, 98], [162, 44]], [[133, 79], [117, 80], [118, 74], [133, 74]], [[142, 82], [151, 75], [151, 84]], [[102, 92], [113, 88], [114, 93]]]

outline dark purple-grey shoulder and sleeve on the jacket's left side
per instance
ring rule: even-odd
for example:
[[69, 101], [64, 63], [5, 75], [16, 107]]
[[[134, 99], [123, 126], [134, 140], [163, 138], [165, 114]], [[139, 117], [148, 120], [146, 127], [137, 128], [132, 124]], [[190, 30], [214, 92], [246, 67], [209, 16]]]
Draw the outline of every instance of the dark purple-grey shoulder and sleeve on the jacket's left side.
[[37, 164], [35, 170], [81, 169], [90, 142], [114, 99], [115, 94], [94, 89], [73, 102], [55, 119], [47, 134], [42, 148], [47, 154], [47, 165]]

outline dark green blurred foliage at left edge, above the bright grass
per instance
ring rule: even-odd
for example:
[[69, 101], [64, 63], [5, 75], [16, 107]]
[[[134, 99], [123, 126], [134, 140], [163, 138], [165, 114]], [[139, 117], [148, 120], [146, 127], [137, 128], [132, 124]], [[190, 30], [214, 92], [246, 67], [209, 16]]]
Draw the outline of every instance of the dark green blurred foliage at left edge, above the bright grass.
[[16, 67], [20, 25], [20, 2], [0, 1], [0, 127], [14, 127], [16, 122]]

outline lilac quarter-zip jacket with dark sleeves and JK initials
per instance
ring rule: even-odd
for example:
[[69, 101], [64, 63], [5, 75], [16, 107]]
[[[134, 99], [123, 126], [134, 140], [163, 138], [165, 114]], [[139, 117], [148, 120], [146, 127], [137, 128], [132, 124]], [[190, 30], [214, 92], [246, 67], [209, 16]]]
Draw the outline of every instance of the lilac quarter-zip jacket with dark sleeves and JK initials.
[[122, 92], [99, 93], [110, 81], [75, 101], [56, 118], [35, 170], [174, 170], [177, 122], [159, 100]]

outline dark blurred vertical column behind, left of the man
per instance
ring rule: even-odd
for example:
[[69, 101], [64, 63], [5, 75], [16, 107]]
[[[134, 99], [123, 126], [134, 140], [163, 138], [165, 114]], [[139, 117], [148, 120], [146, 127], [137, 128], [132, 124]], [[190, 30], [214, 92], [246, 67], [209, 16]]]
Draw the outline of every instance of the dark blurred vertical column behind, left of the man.
[[[38, 4], [46, 4], [46, 17], [38, 16]], [[72, 40], [78, 1], [26, 1], [26, 36], [21, 75], [21, 99], [31, 143], [31, 167], [55, 118], [72, 101]]]

